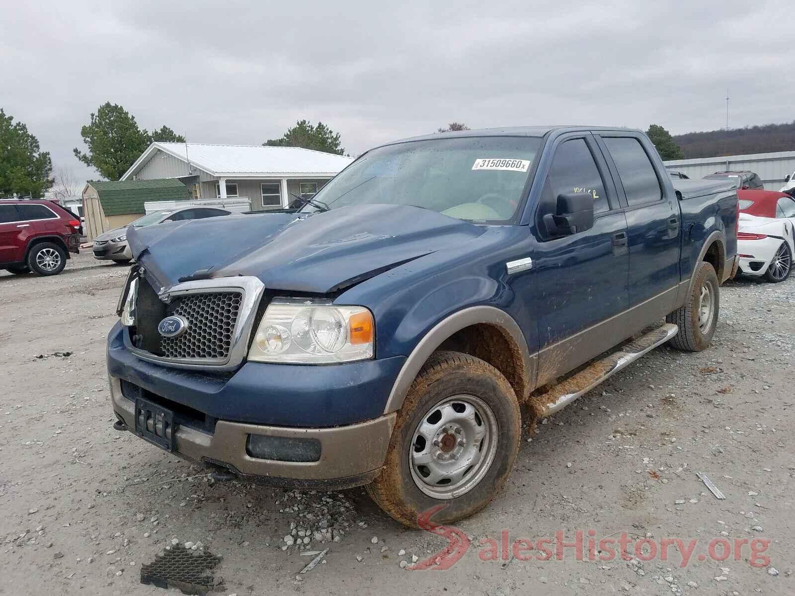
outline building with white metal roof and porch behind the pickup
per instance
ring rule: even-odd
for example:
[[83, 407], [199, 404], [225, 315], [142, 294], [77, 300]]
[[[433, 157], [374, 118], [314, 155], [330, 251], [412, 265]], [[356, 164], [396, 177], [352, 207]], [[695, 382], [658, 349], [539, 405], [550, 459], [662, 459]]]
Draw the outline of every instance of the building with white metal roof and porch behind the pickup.
[[194, 199], [246, 198], [258, 211], [314, 195], [351, 161], [300, 147], [154, 142], [121, 180], [178, 178]]

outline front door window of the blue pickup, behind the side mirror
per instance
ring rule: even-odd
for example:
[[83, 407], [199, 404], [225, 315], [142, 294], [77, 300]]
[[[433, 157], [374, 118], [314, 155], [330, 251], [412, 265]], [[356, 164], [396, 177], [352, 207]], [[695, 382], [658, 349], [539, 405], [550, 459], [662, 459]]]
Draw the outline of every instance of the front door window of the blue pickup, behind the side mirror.
[[588, 149], [588, 143], [582, 138], [564, 141], [557, 148], [544, 187], [543, 200], [550, 204], [545, 206], [543, 212], [554, 212], [557, 196], [571, 192], [588, 192], [592, 195], [595, 214], [610, 211], [599, 168], [596, 167], [591, 149]]

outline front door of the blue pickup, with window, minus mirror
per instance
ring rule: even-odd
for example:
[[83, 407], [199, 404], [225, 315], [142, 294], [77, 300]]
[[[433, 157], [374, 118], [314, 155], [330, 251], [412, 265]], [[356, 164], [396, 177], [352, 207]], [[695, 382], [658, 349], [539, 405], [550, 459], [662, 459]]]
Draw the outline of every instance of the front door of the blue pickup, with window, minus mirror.
[[[532, 287], [538, 321], [538, 384], [553, 380], [623, 338], [619, 315], [629, 303], [626, 219], [610, 173], [591, 134], [563, 137], [553, 148], [535, 225]], [[588, 193], [594, 225], [563, 238], [547, 238], [541, 221], [556, 197]]]

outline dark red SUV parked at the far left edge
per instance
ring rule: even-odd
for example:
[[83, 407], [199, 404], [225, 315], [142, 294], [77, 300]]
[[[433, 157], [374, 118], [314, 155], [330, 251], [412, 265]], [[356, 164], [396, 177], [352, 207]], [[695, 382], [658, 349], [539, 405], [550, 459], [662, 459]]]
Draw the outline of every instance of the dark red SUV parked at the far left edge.
[[80, 219], [52, 201], [0, 200], [0, 269], [57, 275], [80, 252]]

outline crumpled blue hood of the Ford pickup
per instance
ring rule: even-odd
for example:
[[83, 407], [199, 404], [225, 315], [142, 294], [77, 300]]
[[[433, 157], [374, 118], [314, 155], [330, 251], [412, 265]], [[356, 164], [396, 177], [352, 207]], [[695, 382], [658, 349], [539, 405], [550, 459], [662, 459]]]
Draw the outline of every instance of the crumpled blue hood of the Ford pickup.
[[484, 230], [436, 211], [374, 204], [166, 223], [130, 230], [127, 241], [163, 288], [245, 275], [266, 288], [328, 293], [471, 242]]

